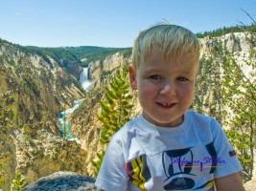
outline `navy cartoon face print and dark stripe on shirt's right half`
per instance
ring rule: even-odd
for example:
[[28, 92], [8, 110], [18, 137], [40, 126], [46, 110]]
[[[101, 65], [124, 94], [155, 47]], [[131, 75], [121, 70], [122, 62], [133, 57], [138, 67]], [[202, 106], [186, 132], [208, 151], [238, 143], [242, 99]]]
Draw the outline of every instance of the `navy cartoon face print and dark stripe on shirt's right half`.
[[[214, 173], [217, 165], [217, 153], [213, 142], [205, 145], [208, 153], [211, 156], [211, 169], [209, 174]], [[202, 167], [202, 162], [195, 162], [192, 148], [177, 149], [164, 151], [162, 155], [162, 164], [166, 180], [168, 183], [164, 186], [165, 190], [186, 190], [186, 189], [201, 189], [212, 187], [213, 180], [207, 181], [195, 188], [195, 176], [192, 169], [195, 167]], [[196, 164], [195, 164], [196, 163]], [[200, 166], [198, 166], [200, 165]], [[182, 176], [180, 176], [182, 175]]]

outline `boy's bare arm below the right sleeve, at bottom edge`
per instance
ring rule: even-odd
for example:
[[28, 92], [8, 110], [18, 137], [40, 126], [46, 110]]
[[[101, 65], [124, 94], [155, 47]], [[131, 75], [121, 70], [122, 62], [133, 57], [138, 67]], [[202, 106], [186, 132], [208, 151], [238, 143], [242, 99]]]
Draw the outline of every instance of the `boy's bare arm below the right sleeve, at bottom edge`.
[[245, 191], [238, 173], [234, 173], [215, 180], [217, 191]]

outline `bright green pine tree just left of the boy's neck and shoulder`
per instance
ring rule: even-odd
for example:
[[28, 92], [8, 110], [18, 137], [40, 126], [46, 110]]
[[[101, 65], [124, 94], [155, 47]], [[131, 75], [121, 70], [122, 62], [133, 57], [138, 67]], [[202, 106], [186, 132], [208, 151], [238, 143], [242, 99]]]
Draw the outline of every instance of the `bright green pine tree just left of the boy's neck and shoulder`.
[[[105, 88], [105, 98], [100, 101], [102, 112], [99, 120], [103, 123], [100, 133], [100, 142], [107, 145], [110, 138], [129, 120], [131, 94], [129, 93], [128, 67], [123, 71], [117, 70], [112, 82]], [[97, 176], [105, 151], [97, 154], [92, 161]]]

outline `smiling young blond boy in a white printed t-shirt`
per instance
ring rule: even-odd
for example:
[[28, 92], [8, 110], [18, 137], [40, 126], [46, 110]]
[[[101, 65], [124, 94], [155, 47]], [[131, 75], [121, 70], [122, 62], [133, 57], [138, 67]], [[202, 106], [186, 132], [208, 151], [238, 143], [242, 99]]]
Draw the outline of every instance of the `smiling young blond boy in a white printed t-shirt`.
[[198, 59], [198, 38], [187, 29], [164, 24], [139, 33], [128, 72], [143, 113], [111, 138], [98, 187], [244, 190], [241, 164], [219, 123], [188, 111]]

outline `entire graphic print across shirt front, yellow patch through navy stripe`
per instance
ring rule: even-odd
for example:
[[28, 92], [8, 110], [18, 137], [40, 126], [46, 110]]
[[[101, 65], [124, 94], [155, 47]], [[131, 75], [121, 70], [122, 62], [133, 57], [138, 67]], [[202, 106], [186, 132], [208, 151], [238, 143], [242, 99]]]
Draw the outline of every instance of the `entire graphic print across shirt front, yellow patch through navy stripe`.
[[[213, 142], [205, 145], [205, 148], [210, 156], [208, 158], [211, 160], [208, 164], [205, 164], [208, 165], [207, 169], [203, 170], [207, 170], [208, 172], [206, 173], [212, 174], [217, 166], [217, 152]], [[204, 168], [204, 164], [201, 163], [202, 166], [200, 166], [200, 163], [195, 162], [197, 161], [195, 159], [196, 154], [197, 152], [195, 152], [193, 147], [167, 150], [162, 153], [162, 161], [159, 159], [159, 162], [162, 163], [163, 169], [159, 170], [162, 170], [166, 177], [166, 179], [163, 180], [164, 190], [198, 190], [213, 187], [214, 180], [202, 182], [201, 185], [197, 185], [196, 187], [195, 180], [197, 180], [197, 176], [201, 176], [201, 171], [195, 171], [194, 168]], [[148, 166], [147, 156], [144, 154], [129, 161], [126, 163], [126, 169], [131, 183], [141, 190], [147, 190], [147, 188], [145, 188], [145, 183], [151, 180], [151, 172]]]

